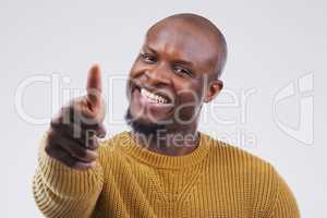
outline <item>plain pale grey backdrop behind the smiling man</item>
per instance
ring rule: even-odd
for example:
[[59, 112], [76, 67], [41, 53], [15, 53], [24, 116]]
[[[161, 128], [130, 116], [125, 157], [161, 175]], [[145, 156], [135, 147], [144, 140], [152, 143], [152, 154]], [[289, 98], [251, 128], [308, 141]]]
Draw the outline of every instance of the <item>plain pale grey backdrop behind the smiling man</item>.
[[[232, 124], [208, 117], [201, 129], [219, 138], [235, 131], [255, 143], [237, 146], [270, 161], [288, 181], [303, 217], [325, 217], [326, 201], [326, 2], [275, 1], [16, 1], [0, 0], [1, 75], [1, 217], [40, 217], [31, 190], [38, 142], [47, 124], [26, 122], [15, 105], [16, 88], [34, 75], [69, 76], [64, 88], [84, 89], [86, 72], [100, 63], [104, 77], [125, 76], [147, 27], [178, 12], [199, 13], [216, 23], [227, 37], [229, 59], [222, 80], [235, 95], [254, 89], [240, 107], [216, 109]], [[278, 128], [274, 97], [302, 75], [314, 76], [314, 141], [295, 140]], [[126, 108], [124, 82], [108, 87], [112, 119]], [[221, 95], [215, 104], [228, 101]], [[299, 125], [299, 100], [293, 96], [278, 106], [280, 120]], [[51, 86], [34, 83], [22, 97], [24, 111], [49, 119]], [[242, 121], [240, 112], [246, 113]], [[311, 116], [311, 114], [305, 114]], [[109, 135], [126, 126], [107, 120]], [[311, 130], [310, 130], [311, 131]], [[313, 130], [312, 130], [313, 131]], [[237, 136], [235, 136], [237, 137]]]

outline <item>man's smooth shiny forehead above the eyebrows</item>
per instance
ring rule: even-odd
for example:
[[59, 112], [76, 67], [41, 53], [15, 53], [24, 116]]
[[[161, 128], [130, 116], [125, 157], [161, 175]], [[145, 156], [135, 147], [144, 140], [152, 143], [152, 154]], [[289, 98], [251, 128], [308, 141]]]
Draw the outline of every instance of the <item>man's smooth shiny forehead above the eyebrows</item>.
[[218, 59], [214, 36], [187, 23], [154, 26], [146, 35], [145, 47], [167, 58], [190, 61], [198, 68], [204, 64], [215, 66]]

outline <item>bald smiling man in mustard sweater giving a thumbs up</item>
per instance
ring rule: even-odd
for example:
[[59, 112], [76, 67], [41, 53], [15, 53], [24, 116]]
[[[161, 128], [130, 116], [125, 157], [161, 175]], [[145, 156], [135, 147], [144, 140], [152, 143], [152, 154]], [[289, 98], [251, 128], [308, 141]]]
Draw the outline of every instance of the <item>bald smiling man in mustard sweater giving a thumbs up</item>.
[[104, 141], [100, 72], [87, 95], [52, 119], [39, 153], [34, 197], [47, 217], [299, 218], [268, 162], [197, 131], [222, 88], [222, 34], [177, 14], [149, 28], [129, 76], [131, 132]]

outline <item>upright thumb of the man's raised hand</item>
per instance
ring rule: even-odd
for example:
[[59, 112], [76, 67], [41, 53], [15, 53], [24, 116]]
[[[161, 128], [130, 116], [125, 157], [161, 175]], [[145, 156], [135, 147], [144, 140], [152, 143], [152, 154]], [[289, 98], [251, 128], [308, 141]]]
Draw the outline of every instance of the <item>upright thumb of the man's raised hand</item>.
[[101, 104], [102, 93], [101, 73], [98, 64], [94, 64], [88, 72], [86, 90], [90, 109], [97, 109]]

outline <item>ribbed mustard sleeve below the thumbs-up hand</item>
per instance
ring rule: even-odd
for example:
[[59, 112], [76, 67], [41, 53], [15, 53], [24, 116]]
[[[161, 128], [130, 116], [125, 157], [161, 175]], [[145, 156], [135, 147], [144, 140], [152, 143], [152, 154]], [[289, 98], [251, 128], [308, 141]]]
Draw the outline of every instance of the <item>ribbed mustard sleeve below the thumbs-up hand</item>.
[[100, 164], [85, 171], [69, 168], [45, 153], [46, 137], [39, 147], [33, 178], [33, 194], [38, 208], [49, 218], [92, 217], [104, 183]]

